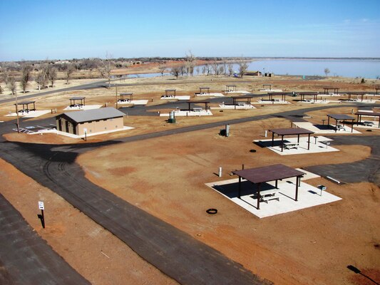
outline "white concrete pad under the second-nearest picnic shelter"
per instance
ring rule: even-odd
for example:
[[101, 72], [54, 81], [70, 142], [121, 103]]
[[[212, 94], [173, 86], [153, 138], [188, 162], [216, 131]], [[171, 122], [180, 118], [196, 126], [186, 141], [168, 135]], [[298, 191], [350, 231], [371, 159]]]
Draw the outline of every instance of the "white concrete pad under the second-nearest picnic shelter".
[[[273, 147], [272, 147], [272, 139], [254, 140], [254, 142], [257, 142], [257, 145], [267, 147], [269, 150], [276, 152], [278, 155], [302, 155], [302, 154], [317, 153], [317, 152], [339, 151], [334, 147], [330, 147], [329, 145], [322, 143], [322, 142], [332, 141], [332, 139], [318, 137], [317, 142], [316, 142], [315, 138], [313, 138], [312, 136], [310, 137], [310, 149], [307, 150], [307, 140], [308, 140], [307, 137], [299, 138], [299, 145], [297, 146], [297, 148], [286, 149], [284, 147], [282, 151], [281, 151], [281, 139], [274, 140]], [[297, 137], [296, 138], [285, 137], [284, 142], [297, 143]]]

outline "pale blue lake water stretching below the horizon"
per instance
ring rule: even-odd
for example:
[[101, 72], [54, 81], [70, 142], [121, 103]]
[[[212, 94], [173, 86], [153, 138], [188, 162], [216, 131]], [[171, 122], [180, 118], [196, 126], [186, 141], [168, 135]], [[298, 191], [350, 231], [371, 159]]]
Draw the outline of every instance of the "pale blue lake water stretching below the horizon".
[[[234, 64], [234, 71], [239, 71]], [[199, 68], [195, 68], [195, 75]], [[261, 71], [274, 73], [275, 75], [292, 76], [325, 76], [324, 69], [329, 68], [329, 76], [342, 76], [351, 78], [378, 78], [380, 77], [380, 60], [322, 60], [322, 59], [272, 59], [263, 61], [252, 61], [249, 63], [248, 71]], [[164, 73], [168, 76], [170, 73]], [[161, 73], [130, 74], [125, 78], [146, 78], [161, 76]]]

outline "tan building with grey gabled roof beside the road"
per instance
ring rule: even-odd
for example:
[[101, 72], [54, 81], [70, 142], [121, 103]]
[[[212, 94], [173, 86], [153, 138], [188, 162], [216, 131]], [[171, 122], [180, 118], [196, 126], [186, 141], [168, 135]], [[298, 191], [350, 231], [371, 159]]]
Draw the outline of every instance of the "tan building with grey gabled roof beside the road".
[[118, 130], [124, 127], [124, 116], [123, 112], [112, 107], [68, 112], [56, 116], [56, 127], [73, 135], [84, 135], [84, 129], [88, 134]]

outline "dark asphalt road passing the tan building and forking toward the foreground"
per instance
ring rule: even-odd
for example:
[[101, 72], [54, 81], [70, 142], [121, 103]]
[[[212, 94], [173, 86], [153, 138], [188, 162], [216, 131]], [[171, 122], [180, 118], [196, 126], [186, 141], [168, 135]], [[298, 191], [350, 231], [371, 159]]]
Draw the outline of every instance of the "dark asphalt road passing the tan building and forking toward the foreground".
[[[360, 105], [360, 104], [357, 104]], [[335, 106], [337, 108], [346, 105]], [[349, 106], [354, 106], [350, 104]], [[367, 105], [366, 105], [367, 106]], [[245, 123], [265, 118], [302, 120], [304, 111], [316, 107], [276, 115], [261, 115], [228, 120], [158, 133], [135, 135], [116, 140], [79, 145], [37, 145], [5, 142], [0, 139], [0, 157], [41, 185], [61, 195], [105, 229], [115, 234], [143, 259], [153, 264], [180, 284], [270, 284], [270, 281], [247, 271], [215, 249], [197, 241], [156, 217], [144, 212], [111, 192], [94, 185], [84, 177], [75, 163], [76, 157], [96, 147], [120, 142], [133, 142], [164, 135], [216, 128], [225, 124]], [[329, 108], [334, 108], [333, 106]], [[48, 120], [43, 120], [48, 122]], [[34, 121], [38, 123], [38, 121]], [[13, 122], [1, 123], [0, 133], [8, 133]], [[37, 253], [36, 253], [37, 254]]]

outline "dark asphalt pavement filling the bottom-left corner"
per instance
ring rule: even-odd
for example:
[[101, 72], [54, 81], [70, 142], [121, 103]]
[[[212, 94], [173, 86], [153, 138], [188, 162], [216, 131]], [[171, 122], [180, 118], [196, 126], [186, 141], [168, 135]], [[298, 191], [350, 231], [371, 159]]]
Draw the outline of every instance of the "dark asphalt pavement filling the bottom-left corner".
[[0, 194], [0, 284], [90, 284]]

